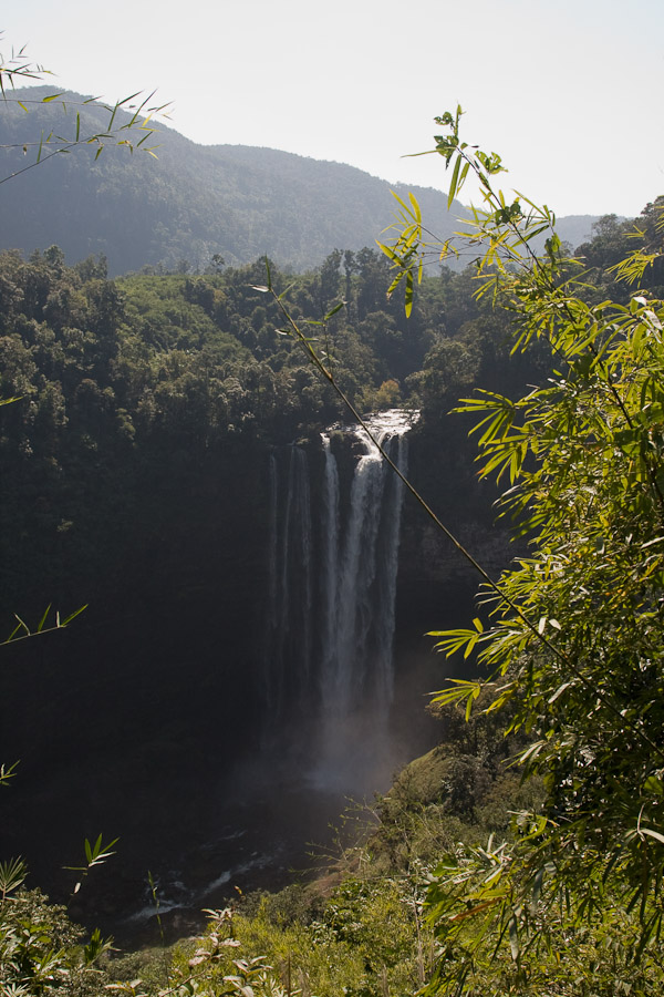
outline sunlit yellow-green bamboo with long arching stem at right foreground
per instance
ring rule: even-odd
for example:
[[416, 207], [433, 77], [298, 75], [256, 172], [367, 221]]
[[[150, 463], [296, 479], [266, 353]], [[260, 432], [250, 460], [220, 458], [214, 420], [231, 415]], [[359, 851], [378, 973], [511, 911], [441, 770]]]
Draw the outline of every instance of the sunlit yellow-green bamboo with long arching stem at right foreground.
[[[479, 571], [489, 617], [433, 633], [448, 655], [477, 651], [489, 675], [453, 682], [437, 701], [463, 703], [469, 716], [488, 687], [487, 710], [510, 703], [509, 730], [531, 738], [517, 761], [547, 789], [543, 813], [521, 815], [516, 845], [489, 844], [461, 865], [450, 856], [430, 888], [442, 944], [465, 953], [450, 963], [459, 994], [470, 993], [468, 974], [487, 939], [496, 952], [509, 944], [517, 969], [526, 950], [550, 942], [542, 912], [556, 903], [573, 923], [608, 905], [634, 914], [635, 958], [656, 944], [664, 919], [664, 302], [637, 286], [626, 305], [588, 304], [583, 264], [564, 255], [553, 213], [495, 189], [501, 160], [461, 141], [460, 117], [458, 107], [436, 119], [446, 133], [430, 152], [452, 168], [449, 204], [468, 177], [479, 185], [484, 206], [457, 234], [477, 249], [477, 294], [512, 310], [513, 351], [535, 340], [548, 346], [552, 376], [516, 401], [480, 391], [457, 410], [478, 420], [480, 475], [509, 480], [502, 514], [532, 547], [498, 583], [405, 481]], [[396, 268], [391, 292], [404, 281], [409, 310], [425, 259], [458, 250], [432, 243], [413, 196], [409, 205], [397, 201], [396, 235], [378, 245]], [[532, 240], [542, 234], [538, 255]], [[639, 285], [661, 255], [662, 247], [637, 249], [619, 277]], [[362, 424], [269, 275], [260, 290], [279, 302], [281, 331]]]

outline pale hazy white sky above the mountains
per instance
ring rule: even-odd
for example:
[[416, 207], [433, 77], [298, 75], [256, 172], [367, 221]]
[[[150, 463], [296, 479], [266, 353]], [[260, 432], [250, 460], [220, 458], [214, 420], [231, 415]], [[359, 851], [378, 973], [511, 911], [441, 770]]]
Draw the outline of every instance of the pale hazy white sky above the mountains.
[[157, 89], [195, 142], [445, 189], [438, 156], [403, 156], [460, 103], [465, 137], [509, 166], [504, 186], [559, 214], [635, 215], [664, 193], [664, 0], [3, 7], [6, 58], [25, 44], [59, 88], [107, 100]]

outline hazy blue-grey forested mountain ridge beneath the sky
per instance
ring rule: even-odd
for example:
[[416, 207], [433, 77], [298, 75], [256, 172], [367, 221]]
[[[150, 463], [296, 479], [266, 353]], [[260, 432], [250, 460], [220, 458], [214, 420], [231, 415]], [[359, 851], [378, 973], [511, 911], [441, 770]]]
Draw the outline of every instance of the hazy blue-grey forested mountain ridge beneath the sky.
[[[15, 91], [11, 96], [41, 99], [50, 88]], [[22, 143], [54, 131], [73, 137], [106, 127], [108, 115], [66, 93], [61, 101], [0, 103], [0, 179], [30, 163]], [[334, 248], [373, 246], [395, 214], [394, 189], [413, 191], [429, 227], [443, 238], [455, 229], [464, 207], [425, 187], [390, 185], [354, 166], [320, 162], [272, 148], [197, 145], [160, 126], [158, 158], [96, 146], [54, 156], [0, 185], [0, 248], [25, 254], [53, 244], [69, 263], [103, 253], [111, 274], [149, 265], [178, 269], [187, 261], [205, 269], [215, 254], [227, 264], [249, 263], [267, 254], [297, 270], [317, 266]], [[578, 245], [591, 234], [593, 216], [574, 216], [560, 234]]]

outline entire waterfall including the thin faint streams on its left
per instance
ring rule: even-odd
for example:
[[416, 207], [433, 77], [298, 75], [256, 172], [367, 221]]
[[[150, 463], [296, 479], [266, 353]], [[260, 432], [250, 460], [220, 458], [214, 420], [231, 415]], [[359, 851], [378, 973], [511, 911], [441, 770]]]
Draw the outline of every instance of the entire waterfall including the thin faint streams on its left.
[[[412, 421], [401, 410], [366, 420], [403, 473]], [[334, 452], [340, 434], [363, 451], [345, 494]], [[361, 426], [332, 426], [321, 441], [322, 461], [315, 464], [302, 448], [290, 448], [281, 482], [279, 458], [270, 465], [266, 685], [272, 711], [288, 696], [317, 718], [309, 751], [312, 783], [356, 791], [370, 787], [381, 761], [390, 767], [403, 484]], [[350, 448], [342, 450], [350, 459]], [[320, 480], [311, 481], [310, 465], [321, 469]], [[321, 496], [314, 515], [312, 492]]]

